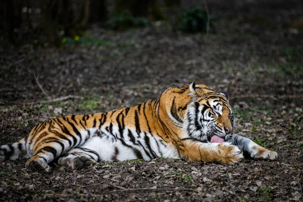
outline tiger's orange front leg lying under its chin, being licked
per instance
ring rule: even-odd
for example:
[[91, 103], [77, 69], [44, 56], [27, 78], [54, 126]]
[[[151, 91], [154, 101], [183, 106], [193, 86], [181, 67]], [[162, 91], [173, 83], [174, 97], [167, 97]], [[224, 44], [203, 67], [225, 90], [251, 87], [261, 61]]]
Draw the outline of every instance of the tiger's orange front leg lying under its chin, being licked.
[[229, 142], [203, 143], [186, 139], [179, 145], [179, 152], [190, 161], [237, 163], [244, 159], [242, 151]]

